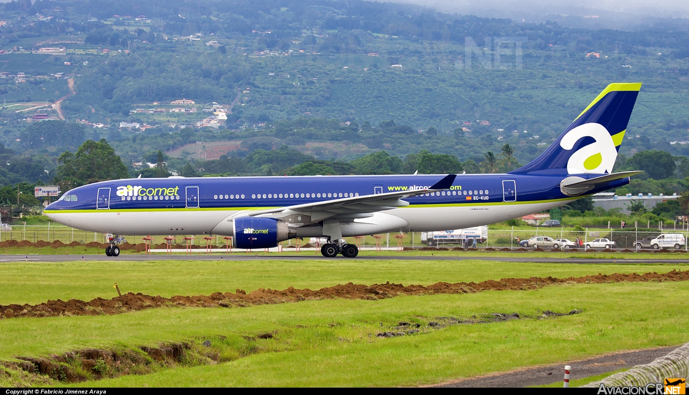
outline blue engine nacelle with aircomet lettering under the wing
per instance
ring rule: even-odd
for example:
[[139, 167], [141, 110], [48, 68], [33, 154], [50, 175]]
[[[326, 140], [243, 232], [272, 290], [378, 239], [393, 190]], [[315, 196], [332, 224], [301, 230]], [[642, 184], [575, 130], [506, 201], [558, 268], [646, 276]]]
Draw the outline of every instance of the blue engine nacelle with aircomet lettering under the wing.
[[282, 221], [263, 217], [240, 217], [233, 221], [234, 248], [271, 248], [289, 238], [289, 228]]

